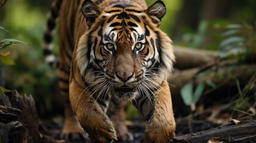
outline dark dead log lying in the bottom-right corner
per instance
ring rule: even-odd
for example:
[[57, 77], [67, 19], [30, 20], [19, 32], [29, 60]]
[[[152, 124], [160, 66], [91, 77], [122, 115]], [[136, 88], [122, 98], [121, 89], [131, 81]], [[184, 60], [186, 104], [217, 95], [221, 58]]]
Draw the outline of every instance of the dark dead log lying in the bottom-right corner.
[[[256, 141], [256, 120], [244, 120], [240, 124], [230, 123], [217, 128], [211, 128], [197, 133], [190, 133], [175, 137], [172, 143], [208, 142], [211, 138], [218, 138], [224, 142]], [[247, 140], [246, 140], [247, 139]]]

